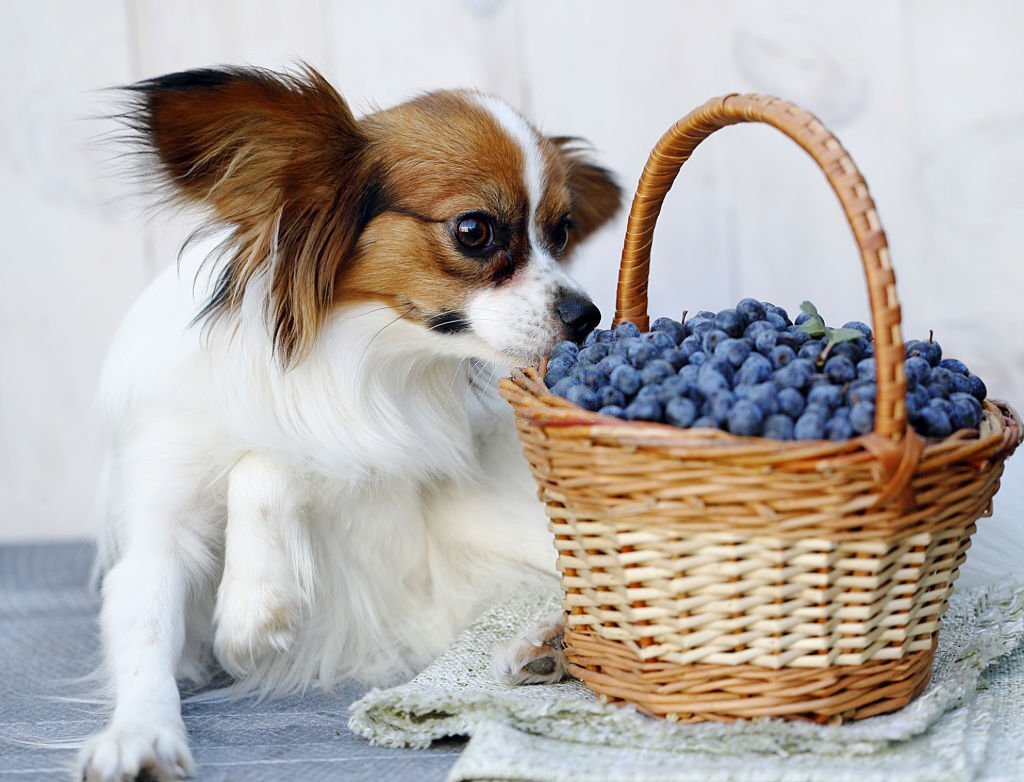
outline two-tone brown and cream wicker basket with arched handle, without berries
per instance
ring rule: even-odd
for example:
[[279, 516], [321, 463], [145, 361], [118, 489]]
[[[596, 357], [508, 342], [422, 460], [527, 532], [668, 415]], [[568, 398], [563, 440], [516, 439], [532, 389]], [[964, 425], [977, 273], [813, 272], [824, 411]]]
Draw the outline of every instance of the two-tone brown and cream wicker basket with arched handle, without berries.
[[620, 421], [550, 394], [532, 368], [502, 393], [555, 535], [573, 676], [670, 720], [861, 719], [928, 683], [939, 617], [1021, 423], [987, 400], [979, 431], [925, 441], [907, 427], [900, 309], [867, 187], [814, 117], [776, 98], [713, 99], [658, 141], [630, 213], [615, 322], [648, 328], [665, 196], [697, 144], [741, 122], [806, 149], [853, 228], [876, 431], [799, 442]]

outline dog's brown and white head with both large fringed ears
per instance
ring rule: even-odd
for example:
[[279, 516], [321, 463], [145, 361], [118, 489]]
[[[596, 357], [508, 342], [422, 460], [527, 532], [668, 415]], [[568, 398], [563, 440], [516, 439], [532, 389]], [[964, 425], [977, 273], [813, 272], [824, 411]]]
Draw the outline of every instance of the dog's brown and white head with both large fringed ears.
[[620, 190], [501, 100], [433, 92], [360, 120], [315, 71], [201, 70], [129, 88], [175, 198], [231, 226], [204, 316], [266, 275], [287, 365], [332, 312], [379, 302], [453, 355], [526, 363], [600, 313], [561, 261]]

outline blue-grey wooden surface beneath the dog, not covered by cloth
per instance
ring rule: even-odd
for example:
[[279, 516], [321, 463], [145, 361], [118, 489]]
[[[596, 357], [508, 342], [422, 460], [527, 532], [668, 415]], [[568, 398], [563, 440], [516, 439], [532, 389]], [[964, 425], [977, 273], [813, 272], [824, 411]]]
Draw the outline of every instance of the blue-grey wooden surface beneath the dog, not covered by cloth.
[[[70, 779], [75, 750], [54, 743], [103, 725], [80, 702], [95, 667], [98, 602], [88, 590], [88, 544], [0, 547], [0, 780]], [[199, 782], [443, 780], [461, 741], [414, 751], [372, 747], [346, 727], [355, 685], [257, 703], [185, 703]]]

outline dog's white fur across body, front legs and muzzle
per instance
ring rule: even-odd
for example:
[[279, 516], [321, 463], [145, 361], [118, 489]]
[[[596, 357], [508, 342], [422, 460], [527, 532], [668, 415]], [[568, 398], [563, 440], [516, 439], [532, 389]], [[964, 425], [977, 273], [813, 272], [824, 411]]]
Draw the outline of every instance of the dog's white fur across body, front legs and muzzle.
[[285, 372], [265, 275], [237, 316], [190, 325], [216, 278], [216, 263], [200, 265], [208, 249], [142, 295], [103, 372], [100, 621], [115, 707], [83, 750], [88, 779], [190, 771], [175, 680], [202, 681], [214, 650], [241, 689], [392, 682], [488, 601], [554, 574], [497, 395], [503, 367], [467, 359], [550, 347], [553, 297], [579, 287], [546, 252], [531, 248], [515, 285], [470, 302], [477, 336], [350, 306]]

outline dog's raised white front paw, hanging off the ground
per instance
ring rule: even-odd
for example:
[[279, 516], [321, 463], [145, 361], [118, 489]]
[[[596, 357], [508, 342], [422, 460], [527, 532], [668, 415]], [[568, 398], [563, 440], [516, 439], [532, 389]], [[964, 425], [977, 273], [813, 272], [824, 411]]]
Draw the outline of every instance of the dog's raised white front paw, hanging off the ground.
[[301, 601], [263, 580], [224, 576], [217, 591], [213, 651], [231, 676], [245, 676], [256, 663], [291, 649], [298, 632]]

